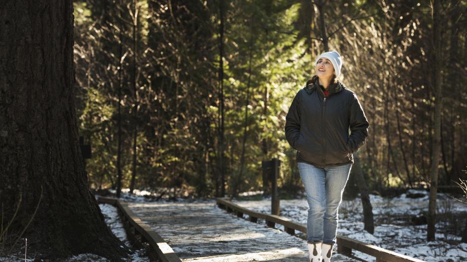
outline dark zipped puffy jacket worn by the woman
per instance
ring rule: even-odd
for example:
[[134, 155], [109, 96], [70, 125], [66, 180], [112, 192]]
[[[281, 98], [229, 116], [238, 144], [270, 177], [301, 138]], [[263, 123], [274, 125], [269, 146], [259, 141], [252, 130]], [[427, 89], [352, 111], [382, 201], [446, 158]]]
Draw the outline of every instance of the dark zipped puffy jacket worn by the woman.
[[368, 126], [354, 92], [337, 82], [329, 85], [325, 98], [316, 80], [295, 96], [286, 117], [285, 136], [298, 150], [297, 162], [332, 167], [353, 163], [352, 153], [365, 143]]

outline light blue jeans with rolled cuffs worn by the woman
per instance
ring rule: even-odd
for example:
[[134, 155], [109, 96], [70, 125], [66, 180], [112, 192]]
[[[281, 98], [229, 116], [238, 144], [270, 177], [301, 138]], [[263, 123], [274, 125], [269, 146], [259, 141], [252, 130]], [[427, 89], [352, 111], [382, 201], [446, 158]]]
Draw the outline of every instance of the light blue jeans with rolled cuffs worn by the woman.
[[352, 164], [316, 168], [298, 162], [308, 200], [307, 242], [336, 243], [337, 210]]

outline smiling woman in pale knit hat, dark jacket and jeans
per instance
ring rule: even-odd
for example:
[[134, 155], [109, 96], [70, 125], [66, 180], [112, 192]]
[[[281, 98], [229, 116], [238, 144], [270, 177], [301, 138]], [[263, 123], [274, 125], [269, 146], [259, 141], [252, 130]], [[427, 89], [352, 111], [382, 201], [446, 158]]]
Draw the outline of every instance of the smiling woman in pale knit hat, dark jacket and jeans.
[[336, 80], [341, 67], [336, 51], [319, 55], [316, 75], [297, 93], [286, 117], [286, 138], [297, 150], [310, 207], [307, 243], [311, 262], [331, 259], [352, 153], [368, 136], [368, 121], [357, 96]]

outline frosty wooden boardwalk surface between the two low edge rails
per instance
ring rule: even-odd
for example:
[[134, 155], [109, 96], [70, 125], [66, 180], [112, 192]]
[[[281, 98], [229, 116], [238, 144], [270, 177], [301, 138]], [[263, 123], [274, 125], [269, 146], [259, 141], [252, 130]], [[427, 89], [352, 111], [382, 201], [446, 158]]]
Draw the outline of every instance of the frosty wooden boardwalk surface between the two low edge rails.
[[[183, 262], [308, 262], [306, 241], [238, 218], [216, 202], [128, 203]], [[354, 262], [336, 254], [333, 262]]]

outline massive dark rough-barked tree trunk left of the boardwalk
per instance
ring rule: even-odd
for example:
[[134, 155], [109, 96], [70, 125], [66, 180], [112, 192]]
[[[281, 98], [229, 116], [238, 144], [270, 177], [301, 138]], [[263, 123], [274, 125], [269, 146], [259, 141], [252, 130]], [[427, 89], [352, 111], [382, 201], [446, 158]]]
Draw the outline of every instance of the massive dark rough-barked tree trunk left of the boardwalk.
[[[28, 254], [94, 253], [117, 260], [121, 242], [90, 193], [78, 143], [72, 0], [0, 6], [0, 202], [2, 227]], [[42, 192], [42, 198], [41, 198]]]

